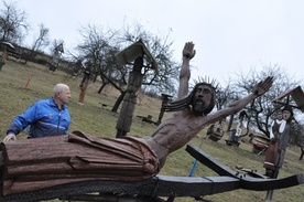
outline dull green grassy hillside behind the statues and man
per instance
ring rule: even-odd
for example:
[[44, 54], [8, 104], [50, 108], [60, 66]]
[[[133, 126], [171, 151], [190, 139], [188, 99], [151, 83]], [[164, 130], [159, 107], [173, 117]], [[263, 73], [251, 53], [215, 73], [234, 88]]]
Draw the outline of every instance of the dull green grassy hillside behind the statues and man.
[[[28, 88], [25, 88], [26, 83]], [[53, 86], [56, 83], [66, 83], [72, 89], [72, 99], [68, 104], [72, 115], [70, 131], [82, 130], [85, 134], [90, 134], [97, 137], [115, 137], [116, 136], [116, 121], [118, 118], [117, 113], [112, 113], [111, 106], [118, 96], [111, 87], [107, 87], [102, 94], [97, 94], [100, 83], [90, 84], [84, 105], [78, 105], [79, 84], [80, 78], [69, 78], [64, 73], [48, 72], [45, 66], [29, 63], [21, 65], [15, 61], [8, 61], [0, 72], [0, 138], [3, 139], [6, 130], [12, 119], [33, 102], [40, 98], [48, 98], [52, 96]], [[102, 106], [106, 104], [107, 106]], [[152, 115], [152, 119], [156, 120], [160, 113], [161, 100], [139, 95], [139, 102], [135, 109], [135, 116]], [[166, 114], [165, 114], [166, 116]], [[165, 117], [164, 117], [165, 118]], [[155, 130], [155, 126], [141, 121], [140, 118], [134, 118], [131, 127], [130, 136], [148, 136]], [[23, 132], [18, 136], [19, 139], [26, 138]], [[257, 169], [263, 172], [262, 162], [264, 156], [257, 156], [251, 152], [252, 146], [242, 142], [240, 147], [227, 146], [225, 137], [218, 142], [206, 139], [206, 131], [200, 134], [192, 140], [191, 143], [199, 147], [202, 150], [210, 155], [216, 160], [220, 161], [227, 167], [235, 168], [242, 164], [248, 168]], [[298, 148], [289, 148], [285, 163], [280, 171], [279, 178], [289, 177], [295, 173], [304, 173], [304, 161], [298, 161]], [[184, 150], [181, 149], [172, 153], [161, 174], [167, 176], [188, 176], [194, 159]], [[204, 167], [197, 166], [196, 177], [217, 176], [214, 171]], [[304, 184], [275, 191], [275, 202], [303, 201]], [[204, 199], [215, 202], [227, 201], [263, 201], [265, 192], [236, 190], [216, 195], [207, 195]], [[195, 201], [191, 198], [178, 198], [175, 201], [192, 202]]]

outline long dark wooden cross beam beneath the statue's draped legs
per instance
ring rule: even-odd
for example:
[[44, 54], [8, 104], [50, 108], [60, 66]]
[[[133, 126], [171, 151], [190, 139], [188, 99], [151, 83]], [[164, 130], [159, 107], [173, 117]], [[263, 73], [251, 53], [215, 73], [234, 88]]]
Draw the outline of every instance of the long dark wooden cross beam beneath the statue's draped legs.
[[0, 202], [68, 199], [94, 192], [137, 196], [199, 196], [239, 189], [238, 179], [230, 177], [167, 177], [156, 176], [138, 182], [93, 180], [61, 184], [50, 189], [0, 195]]

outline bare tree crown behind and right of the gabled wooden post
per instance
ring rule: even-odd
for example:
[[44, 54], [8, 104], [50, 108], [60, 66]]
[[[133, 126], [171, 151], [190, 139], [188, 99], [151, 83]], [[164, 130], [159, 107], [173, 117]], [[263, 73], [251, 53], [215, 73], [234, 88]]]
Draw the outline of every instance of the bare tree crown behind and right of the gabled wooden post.
[[172, 60], [173, 41], [170, 40], [170, 33], [164, 36], [156, 35], [145, 30], [139, 23], [132, 25], [126, 24], [120, 33], [119, 43], [127, 46], [142, 40], [158, 63], [158, 75], [148, 68], [143, 72], [144, 78], [142, 85], [145, 85], [145, 89], [150, 91], [154, 88], [158, 92], [176, 93], [175, 87], [178, 81], [180, 64]]

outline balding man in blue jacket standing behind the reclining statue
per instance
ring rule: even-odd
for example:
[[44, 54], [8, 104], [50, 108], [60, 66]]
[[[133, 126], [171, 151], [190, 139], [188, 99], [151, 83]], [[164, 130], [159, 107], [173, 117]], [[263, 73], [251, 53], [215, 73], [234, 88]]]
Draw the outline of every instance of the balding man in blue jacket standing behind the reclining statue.
[[28, 126], [31, 126], [28, 138], [66, 135], [70, 124], [66, 106], [69, 98], [69, 87], [66, 84], [56, 84], [53, 97], [35, 102], [23, 114], [15, 117], [3, 141], [15, 140], [15, 136]]

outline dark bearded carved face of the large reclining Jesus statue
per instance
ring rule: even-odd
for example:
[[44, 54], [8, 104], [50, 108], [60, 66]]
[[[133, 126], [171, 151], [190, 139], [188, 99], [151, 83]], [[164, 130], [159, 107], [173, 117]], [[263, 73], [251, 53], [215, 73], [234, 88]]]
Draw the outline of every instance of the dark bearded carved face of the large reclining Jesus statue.
[[199, 85], [194, 94], [192, 106], [196, 115], [203, 115], [204, 110], [210, 105], [213, 99], [213, 89], [207, 85]]

